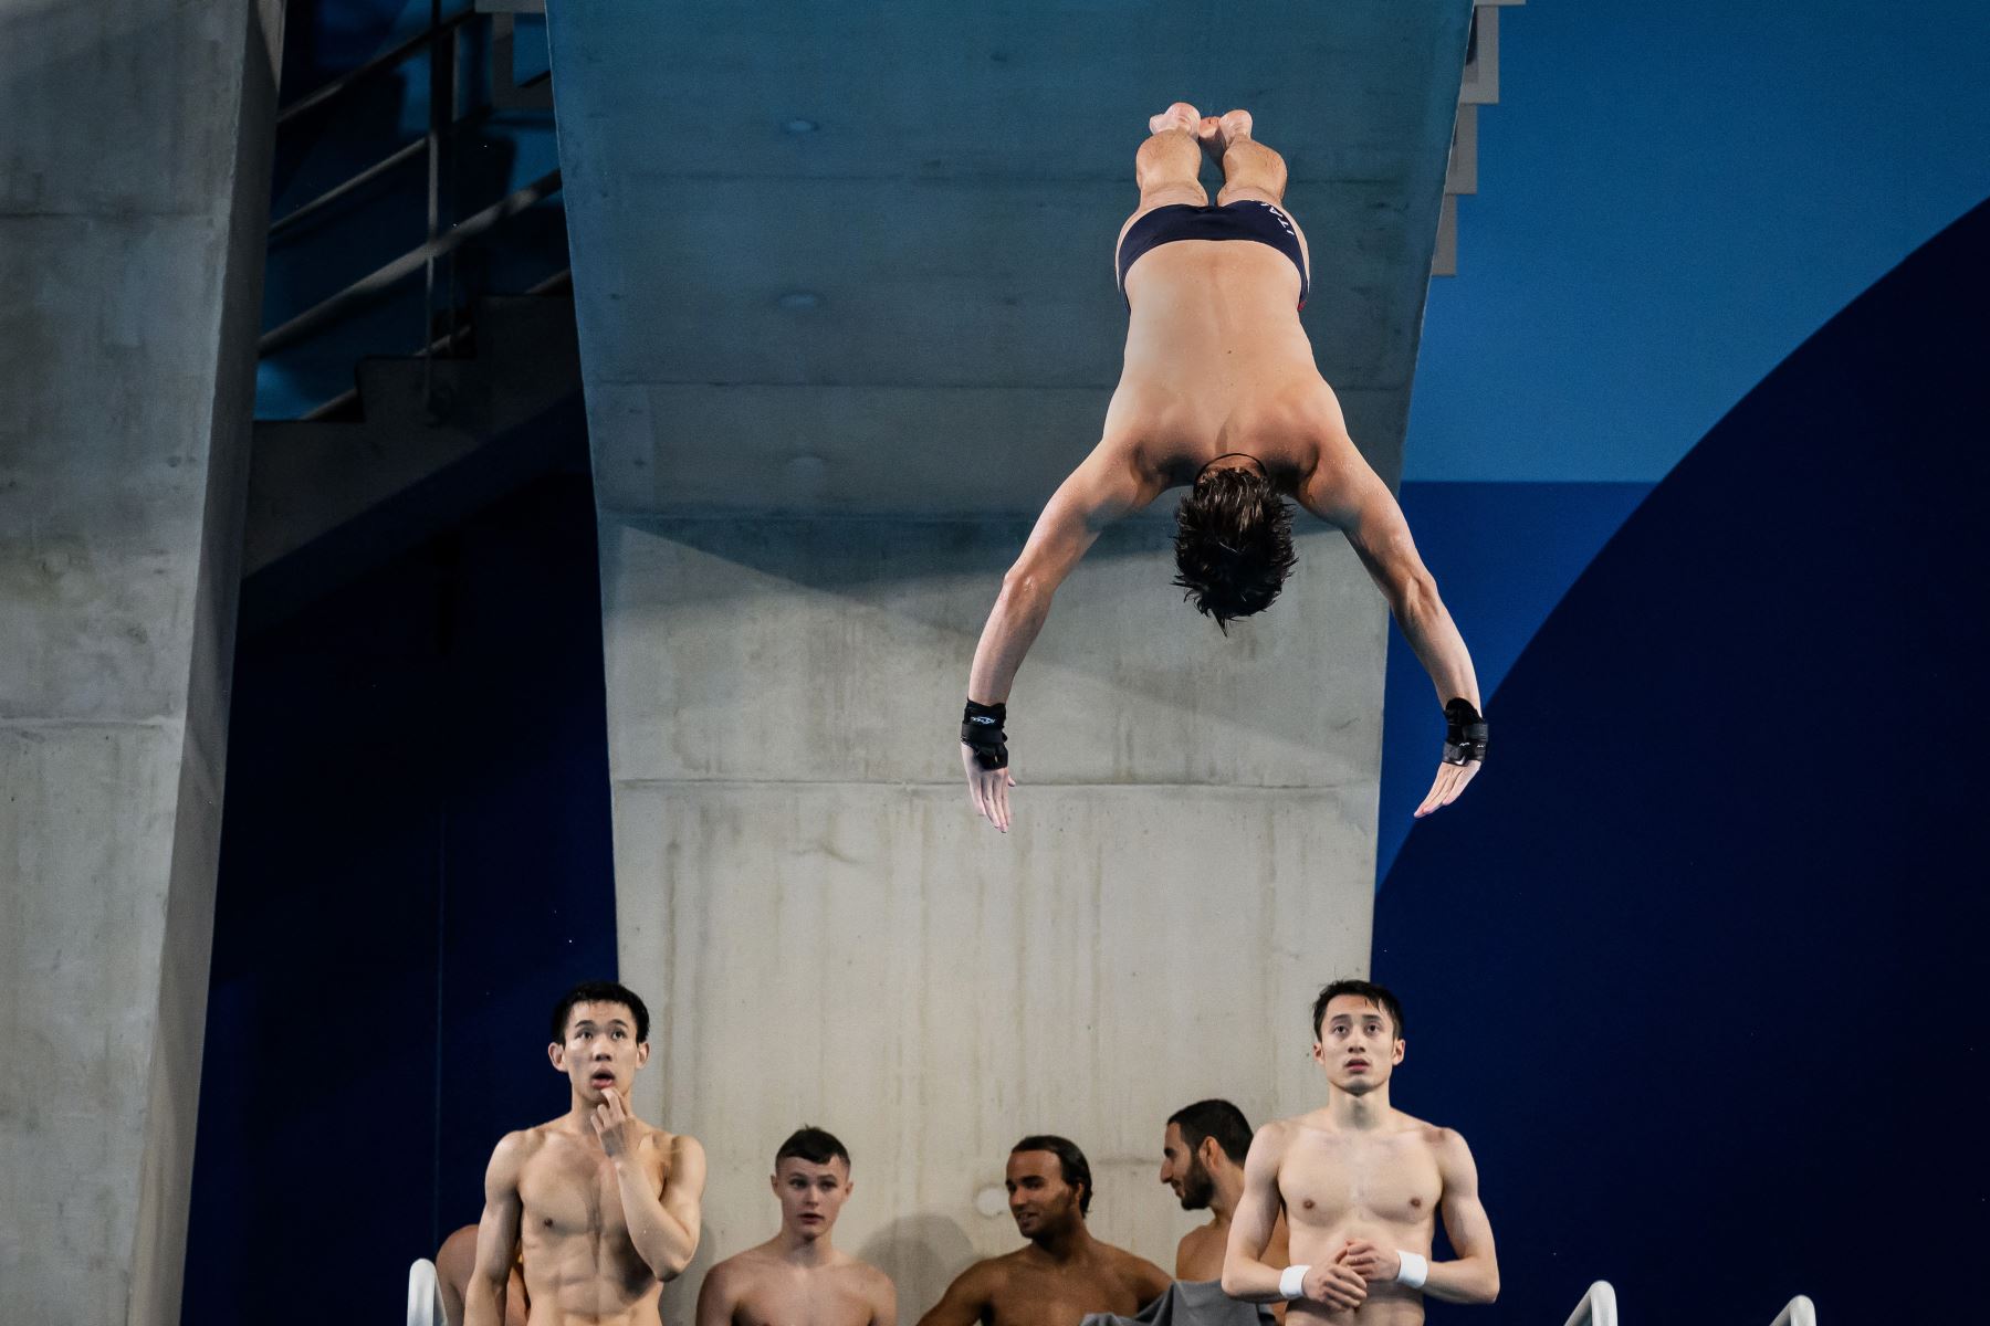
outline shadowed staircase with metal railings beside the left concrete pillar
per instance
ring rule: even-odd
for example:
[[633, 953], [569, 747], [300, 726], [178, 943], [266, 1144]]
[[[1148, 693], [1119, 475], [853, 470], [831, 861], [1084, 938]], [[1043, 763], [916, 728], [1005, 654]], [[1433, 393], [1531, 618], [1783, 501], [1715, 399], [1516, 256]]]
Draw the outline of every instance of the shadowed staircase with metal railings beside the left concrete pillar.
[[[285, 133], [366, 135], [372, 147], [346, 141], [328, 153], [346, 161], [386, 151], [271, 225], [271, 266], [291, 280], [269, 300], [259, 342], [259, 414], [277, 417], [255, 425], [245, 577], [364, 517], [356, 535], [332, 541], [342, 547], [320, 549], [312, 573], [283, 579], [306, 594], [328, 588], [466, 501], [557, 465], [557, 447], [531, 439], [535, 429], [583, 427], [559, 171], [521, 183], [523, 153], [501, 139], [503, 123], [541, 137], [551, 129], [549, 74], [517, 74], [517, 16], [533, 10], [543, 0], [476, 0], [454, 12], [430, 0], [426, 26], [279, 113], [279, 151]], [[382, 143], [378, 103], [412, 103], [422, 83], [426, 133]], [[422, 211], [426, 225], [416, 223]], [[531, 217], [537, 225], [519, 229]], [[370, 270], [324, 292], [354, 258]], [[482, 280], [460, 270], [466, 258]], [[533, 278], [519, 294], [466, 294], [521, 274]], [[352, 386], [328, 392], [336, 372], [326, 378], [326, 364], [344, 364], [336, 372]], [[480, 461], [492, 473], [442, 483], [494, 443], [509, 445], [496, 465]]]

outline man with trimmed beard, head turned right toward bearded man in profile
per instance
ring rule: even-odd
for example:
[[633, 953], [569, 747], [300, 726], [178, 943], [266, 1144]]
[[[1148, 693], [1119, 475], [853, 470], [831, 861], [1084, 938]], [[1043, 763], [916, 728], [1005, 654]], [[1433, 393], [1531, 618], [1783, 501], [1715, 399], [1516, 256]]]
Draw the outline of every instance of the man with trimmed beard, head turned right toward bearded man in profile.
[[1009, 1153], [1009, 1215], [1029, 1244], [963, 1270], [919, 1326], [1077, 1326], [1087, 1312], [1132, 1316], [1168, 1292], [1154, 1262], [1093, 1239], [1093, 1167], [1063, 1137]]

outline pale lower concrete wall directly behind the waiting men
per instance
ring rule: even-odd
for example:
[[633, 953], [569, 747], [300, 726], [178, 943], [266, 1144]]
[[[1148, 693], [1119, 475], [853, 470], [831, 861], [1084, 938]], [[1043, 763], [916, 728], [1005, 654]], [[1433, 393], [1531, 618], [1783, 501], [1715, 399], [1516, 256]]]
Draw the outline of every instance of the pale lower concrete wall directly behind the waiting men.
[[1059, 1131], [1093, 1225], [1172, 1266], [1154, 1175], [1202, 1095], [1311, 1103], [1305, 1008], [1367, 970], [1385, 612], [1339, 537], [1224, 640], [1168, 527], [1108, 531], [1011, 698], [1017, 825], [967, 807], [967, 660], [1017, 521], [603, 517], [621, 974], [653, 1000], [637, 1103], [710, 1151], [669, 1290], [774, 1229], [804, 1121], [858, 1193], [840, 1243], [915, 1320], [1017, 1246], [1009, 1145]]

